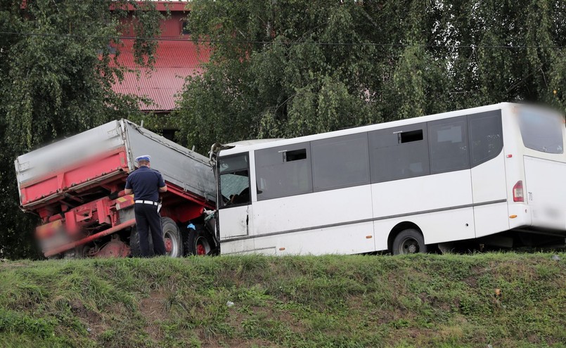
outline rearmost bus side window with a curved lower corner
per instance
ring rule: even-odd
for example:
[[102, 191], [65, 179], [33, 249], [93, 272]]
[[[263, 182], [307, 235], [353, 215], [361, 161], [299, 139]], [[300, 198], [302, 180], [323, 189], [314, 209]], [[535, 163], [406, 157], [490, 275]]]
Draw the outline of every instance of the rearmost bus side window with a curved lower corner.
[[501, 110], [468, 115], [472, 167], [497, 157], [503, 150]]

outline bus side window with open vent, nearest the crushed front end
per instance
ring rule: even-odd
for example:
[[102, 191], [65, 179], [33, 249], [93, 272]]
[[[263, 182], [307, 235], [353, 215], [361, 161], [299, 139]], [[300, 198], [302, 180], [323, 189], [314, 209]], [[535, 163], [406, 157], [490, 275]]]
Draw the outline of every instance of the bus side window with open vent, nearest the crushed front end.
[[255, 151], [257, 200], [269, 200], [312, 192], [309, 143]]

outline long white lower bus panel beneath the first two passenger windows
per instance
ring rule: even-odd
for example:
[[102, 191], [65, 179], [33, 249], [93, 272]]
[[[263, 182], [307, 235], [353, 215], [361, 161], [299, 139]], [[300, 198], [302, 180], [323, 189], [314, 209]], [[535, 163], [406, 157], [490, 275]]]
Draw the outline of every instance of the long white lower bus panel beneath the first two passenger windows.
[[[282, 247], [286, 249], [301, 250], [303, 254], [321, 254], [337, 252], [340, 249], [348, 249], [348, 253], [368, 252], [373, 251], [375, 247], [371, 224], [371, 190], [368, 185], [260, 200], [253, 202], [252, 206], [253, 234], [262, 236], [279, 233], [283, 239], [267, 240], [273, 240], [269, 243], [285, 240]], [[356, 221], [368, 223], [358, 224]], [[304, 231], [309, 229], [317, 231], [313, 235], [308, 233], [308, 236], [314, 236], [312, 240], [305, 237]], [[334, 235], [330, 231], [342, 232]], [[367, 236], [370, 237], [366, 238]], [[291, 238], [292, 243], [287, 241], [288, 238]], [[303, 238], [310, 241], [306, 242]], [[262, 245], [257, 243], [259, 239], [256, 240], [256, 248], [275, 246], [265, 244], [267, 242], [262, 242]], [[346, 247], [344, 243], [352, 244]]]

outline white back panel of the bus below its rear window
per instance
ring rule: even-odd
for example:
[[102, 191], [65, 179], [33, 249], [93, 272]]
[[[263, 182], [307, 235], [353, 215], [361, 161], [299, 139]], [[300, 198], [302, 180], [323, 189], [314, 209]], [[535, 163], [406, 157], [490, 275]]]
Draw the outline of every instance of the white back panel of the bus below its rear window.
[[524, 194], [534, 226], [566, 228], [566, 163], [525, 156]]

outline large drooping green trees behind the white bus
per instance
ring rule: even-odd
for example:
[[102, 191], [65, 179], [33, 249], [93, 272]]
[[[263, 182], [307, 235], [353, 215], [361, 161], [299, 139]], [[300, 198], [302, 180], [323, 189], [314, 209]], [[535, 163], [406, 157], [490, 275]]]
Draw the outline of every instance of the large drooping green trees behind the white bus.
[[565, 109], [558, 0], [193, 0], [212, 49], [179, 140], [289, 137], [503, 101]]

